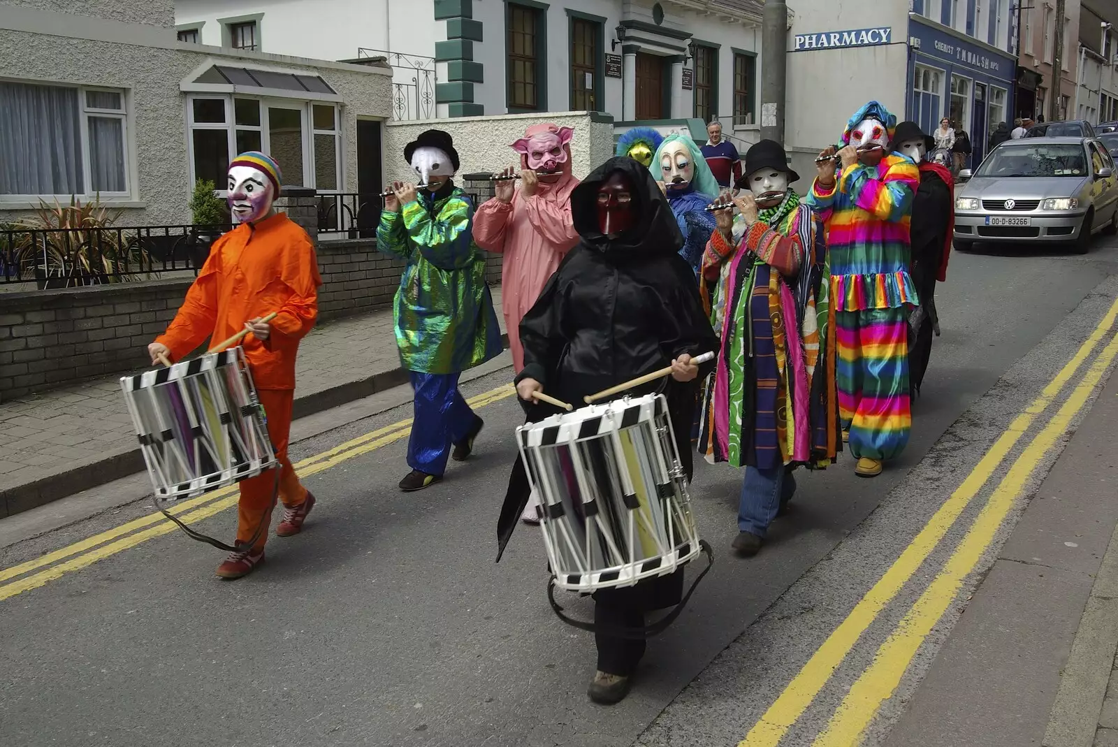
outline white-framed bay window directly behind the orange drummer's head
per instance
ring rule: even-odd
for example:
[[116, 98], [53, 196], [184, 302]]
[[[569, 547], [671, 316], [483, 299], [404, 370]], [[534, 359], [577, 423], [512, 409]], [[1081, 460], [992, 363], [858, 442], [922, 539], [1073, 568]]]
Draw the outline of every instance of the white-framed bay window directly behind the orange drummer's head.
[[338, 106], [295, 100], [244, 96], [192, 96], [190, 120], [191, 183], [226, 183], [229, 161], [245, 151], [264, 151], [276, 160], [284, 183], [340, 191], [341, 124]]

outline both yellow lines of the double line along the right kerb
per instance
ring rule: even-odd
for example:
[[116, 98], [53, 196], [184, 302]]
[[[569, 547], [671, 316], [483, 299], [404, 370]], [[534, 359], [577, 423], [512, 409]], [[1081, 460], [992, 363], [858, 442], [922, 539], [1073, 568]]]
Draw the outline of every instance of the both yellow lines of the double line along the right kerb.
[[[1041, 395], [1013, 419], [1008, 429], [994, 442], [963, 484], [936, 511], [889, 570], [854, 606], [850, 615], [827, 636], [823, 645], [815, 651], [760, 720], [754, 725], [746, 738], [739, 743], [739, 747], [776, 747], [780, 743], [785, 734], [814, 702], [870, 624], [897, 597], [998, 465], [1091, 357], [1110, 332], [1116, 318], [1118, 318], [1118, 301], [1110, 306], [1102, 321], [1071, 360], [1044, 387]], [[873, 662], [843, 698], [826, 728], [817, 735], [813, 747], [853, 747], [862, 743], [866, 727], [877, 717], [881, 705], [892, 696], [920, 644], [955, 601], [959, 587], [994, 541], [1002, 522], [1041, 460], [1086, 406], [1116, 356], [1118, 356], [1118, 333], [1114, 334], [1109, 344], [1095, 359], [1057, 414], [1013, 462], [969, 531], [885, 643], [878, 649]]]

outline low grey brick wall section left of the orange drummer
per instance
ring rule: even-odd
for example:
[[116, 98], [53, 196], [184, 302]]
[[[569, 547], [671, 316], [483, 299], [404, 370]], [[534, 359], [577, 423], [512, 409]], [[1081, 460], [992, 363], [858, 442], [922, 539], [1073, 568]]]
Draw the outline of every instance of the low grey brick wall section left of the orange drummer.
[[3, 294], [0, 397], [149, 366], [148, 343], [174, 318], [190, 282]]

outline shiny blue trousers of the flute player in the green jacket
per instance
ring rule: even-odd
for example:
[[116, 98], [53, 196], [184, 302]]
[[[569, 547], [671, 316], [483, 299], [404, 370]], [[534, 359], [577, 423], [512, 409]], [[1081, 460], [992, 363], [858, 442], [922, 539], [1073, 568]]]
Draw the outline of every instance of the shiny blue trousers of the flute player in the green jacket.
[[477, 416], [458, 391], [458, 374], [408, 371], [415, 415], [408, 439], [408, 466], [442, 476], [451, 445], [470, 435]]

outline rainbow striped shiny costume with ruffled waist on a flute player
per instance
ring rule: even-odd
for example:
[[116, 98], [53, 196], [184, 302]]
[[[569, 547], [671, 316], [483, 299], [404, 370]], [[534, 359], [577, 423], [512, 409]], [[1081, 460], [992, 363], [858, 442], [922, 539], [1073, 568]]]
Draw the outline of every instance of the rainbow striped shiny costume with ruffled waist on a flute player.
[[[875, 102], [872, 106], [891, 130], [896, 117]], [[866, 119], [866, 108], [851, 120], [844, 142], [851, 126]], [[906, 306], [918, 303], [908, 267], [909, 217], [919, 183], [916, 164], [894, 153], [875, 168], [844, 169], [827, 188], [816, 180], [807, 197], [827, 229], [839, 413], [855, 457], [898, 456], [912, 426]]]

